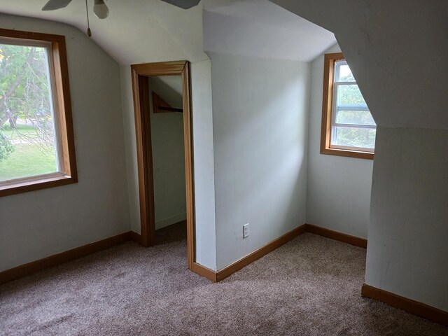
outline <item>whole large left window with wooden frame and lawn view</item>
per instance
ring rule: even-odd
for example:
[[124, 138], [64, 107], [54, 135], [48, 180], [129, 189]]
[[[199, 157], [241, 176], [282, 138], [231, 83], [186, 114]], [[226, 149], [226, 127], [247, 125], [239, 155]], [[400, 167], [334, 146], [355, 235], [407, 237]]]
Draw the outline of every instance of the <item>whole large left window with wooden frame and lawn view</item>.
[[77, 181], [64, 36], [0, 29], [0, 196]]

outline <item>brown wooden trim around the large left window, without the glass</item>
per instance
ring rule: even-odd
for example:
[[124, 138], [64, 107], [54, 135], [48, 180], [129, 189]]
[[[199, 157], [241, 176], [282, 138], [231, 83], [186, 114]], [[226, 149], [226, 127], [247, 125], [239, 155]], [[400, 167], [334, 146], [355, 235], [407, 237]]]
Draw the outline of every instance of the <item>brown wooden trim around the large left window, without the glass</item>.
[[36, 179], [34, 181], [18, 181], [18, 183], [1, 186], [0, 197], [77, 183], [78, 172], [76, 169], [75, 141], [73, 137], [73, 121], [71, 118], [69, 69], [67, 66], [65, 37], [61, 35], [1, 28], [0, 36], [51, 43], [50, 52], [52, 52], [53, 62], [50, 63], [50, 66], [52, 66], [52, 71], [55, 74], [53, 104], [57, 106], [57, 119], [60, 132], [60, 144], [58, 145], [61, 147], [60, 153], [64, 161], [65, 171], [62, 176], [43, 176], [42, 179]]

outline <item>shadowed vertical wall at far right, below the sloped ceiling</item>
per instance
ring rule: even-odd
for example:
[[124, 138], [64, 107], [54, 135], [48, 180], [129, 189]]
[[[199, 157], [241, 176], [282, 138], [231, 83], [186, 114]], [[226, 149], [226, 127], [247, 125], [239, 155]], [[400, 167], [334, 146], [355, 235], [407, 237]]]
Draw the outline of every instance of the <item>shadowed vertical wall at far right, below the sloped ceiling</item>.
[[448, 311], [448, 131], [377, 132], [365, 282]]

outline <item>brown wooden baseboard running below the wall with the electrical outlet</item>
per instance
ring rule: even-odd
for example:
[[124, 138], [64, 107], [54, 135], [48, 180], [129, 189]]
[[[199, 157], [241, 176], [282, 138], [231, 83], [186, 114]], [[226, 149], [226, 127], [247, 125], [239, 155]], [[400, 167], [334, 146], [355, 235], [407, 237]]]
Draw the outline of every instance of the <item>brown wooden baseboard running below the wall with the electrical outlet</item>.
[[257, 259], [260, 259], [263, 255], [266, 255], [269, 252], [274, 251], [276, 248], [279, 248], [283, 244], [286, 244], [288, 241], [297, 237], [298, 235], [302, 235], [306, 232], [306, 226], [300, 225], [298, 228], [286, 232], [286, 234], [280, 236], [277, 239], [269, 241], [265, 246], [258, 248], [258, 250], [253, 251], [251, 254], [246, 255], [245, 257], [233, 262], [232, 264], [220, 269], [216, 273], [216, 281], [221, 281], [233, 273], [239, 271], [239, 269], [249, 265], [251, 262], [254, 262]]

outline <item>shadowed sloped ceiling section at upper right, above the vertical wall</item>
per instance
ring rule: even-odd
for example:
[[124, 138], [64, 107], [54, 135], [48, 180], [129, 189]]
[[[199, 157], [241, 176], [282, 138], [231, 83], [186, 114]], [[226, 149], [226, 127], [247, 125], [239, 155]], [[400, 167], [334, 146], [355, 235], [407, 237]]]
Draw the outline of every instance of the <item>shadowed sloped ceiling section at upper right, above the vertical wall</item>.
[[377, 125], [448, 130], [448, 1], [271, 1], [335, 33]]

